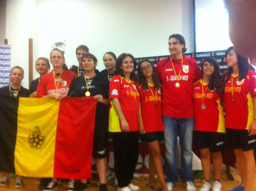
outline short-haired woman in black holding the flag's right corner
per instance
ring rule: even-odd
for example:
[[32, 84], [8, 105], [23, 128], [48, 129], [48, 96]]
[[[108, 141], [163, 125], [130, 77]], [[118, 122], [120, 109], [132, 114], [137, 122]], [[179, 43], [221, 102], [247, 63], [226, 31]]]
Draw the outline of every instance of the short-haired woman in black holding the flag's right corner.
[[[91, 53], [85, 53], [82, 58], [85, 74], [75, 78], [70, 86], [68, 96], [89, 97], [97, 99], [95, 114], [95, 129], [92, 156], [96, 161], [99, 174], [99, 190], [107, 191], [105, 178], [107, 173], [107, 139], [108, 139], [108, 80], [104, 75], [95, 73], [97, 58]], [[87, 179], [81, 180], [81, 184], [75, 189], [83, 191], [87, 188]]]

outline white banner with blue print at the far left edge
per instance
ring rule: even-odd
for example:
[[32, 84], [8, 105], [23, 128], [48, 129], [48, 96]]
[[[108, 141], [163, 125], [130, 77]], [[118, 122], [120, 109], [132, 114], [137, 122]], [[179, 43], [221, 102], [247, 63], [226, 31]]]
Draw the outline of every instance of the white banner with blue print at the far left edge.
[[10, 45], [0, 44], [0, 88], [10, 84]]

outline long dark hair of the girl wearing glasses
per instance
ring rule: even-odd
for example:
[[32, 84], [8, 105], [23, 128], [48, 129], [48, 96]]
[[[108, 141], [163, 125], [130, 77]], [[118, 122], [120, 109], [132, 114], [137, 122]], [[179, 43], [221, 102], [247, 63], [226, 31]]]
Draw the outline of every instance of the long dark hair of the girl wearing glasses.
[[143, 62], [149, 62], [149, 64], [152, 65], [152, 69], [153, 69], [152, 79], [153, 79], [153, 82], [154, 82], [154, 85], [155, 85], [155, 89], [158, 90], [159, 86], [160, 86], [160, 83], [159, 83], [159, 78], [158, 78], [158, 75], [157, 75], [157, 70], [154, 67], [153, 62], [149, 61], [148, 59], [145, 59], [145, 60], [141, 61], [138, 65], [138, 81], [139, 81], [139, 83], [142, 85], [144, 90], [148, 89], [148, 82], [146, 81], [145, 76], [141, 72], [141, 64]]

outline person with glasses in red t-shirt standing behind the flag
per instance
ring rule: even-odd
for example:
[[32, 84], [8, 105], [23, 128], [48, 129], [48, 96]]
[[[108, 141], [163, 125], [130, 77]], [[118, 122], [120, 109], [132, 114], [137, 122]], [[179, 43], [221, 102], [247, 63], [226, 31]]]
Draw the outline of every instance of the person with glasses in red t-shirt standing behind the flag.
[[[52, 50], [50, 62], [52, 63], [53, 70], [45, 74], [40, 80], [37, 86], [37, 97], [62, 100], [68, 95], [69, 86], [77, 75], [72, 71], [63, 69], [65, 58], [63, 52], [59, 49]], [[43, 179], [39, 186], [47, 191], [58, 187], [57, 178], [52, 178], [48, 185], [44, 185], [44, 183], [47, 183], [47, 181]], [[73, 181], [70, 181], [69, 184], [73, 185]]]

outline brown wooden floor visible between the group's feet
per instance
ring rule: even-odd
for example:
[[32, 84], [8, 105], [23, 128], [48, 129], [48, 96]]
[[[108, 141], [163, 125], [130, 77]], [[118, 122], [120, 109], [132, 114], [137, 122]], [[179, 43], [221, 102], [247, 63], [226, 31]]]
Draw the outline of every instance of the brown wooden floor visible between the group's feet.
[[[227, 178], [227, 175], [225, 173], [225, 166], [223, 165], [222, 179], [221, 179], [222, 191], [228, 191], [229, 189], [240, 184], [240, 176], [238, 175], [236, 170], [231, 167], [230, 171], [232, 173], [232, 176], [235, 179], [234, 181], [230, 181]], [[138, 181], [138, 179], [139, 179], [139, 181]], [[18, 189], [14, 188], [14, 182], [15, 182], [15, 178], [13, 178], [13, 177], [10, 178], [9, 185], [7, 185], [5, 187], [0, 186], [0, 191], [42, 191], [42, 190], [38, 189], [39, 181], [37, 178], [24, 178], [24, 187], [18, 188]], [[92, 179], [91, 185], [87, 189], [87, 191], [99, 191], [99, 187], [96, 186], [96, 182], [97, 182], [97, 179]], [[140, 187], [141, 191], [152, 191], [150, 188], [147, 188], [145, 186], [147, 181], [144, 180], [143, 178], [137, 178], [137, 180], [133, 180], [133, 183], [137, 184]], [[198, 190], [202, 186], [202, 184], [203, 184], [202, 182], [194, 182], [194, 185], [196, 186], [196, 188]], [[68, 184], [63, 184], [63, 185], [60, 185], [59, 188], [56, 189], [55, 191], [66, 191], [67, 187], [68, 187]], [[112, 182], [107, 183], [107, 188], [108, 188], [108, 191], [116, 191], [117, 190], [117, 188], [113, 186]], [[177, 186], [175, 186], [173, 188], [173, 191], [185, 191], [185, 190], [186, 189], [181, 182], [178, 182]], [[256, 191], [256, 175], [254, 176], [254, 183], [253, 183], [252, 190]]]

